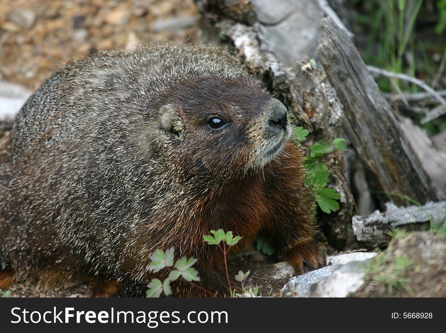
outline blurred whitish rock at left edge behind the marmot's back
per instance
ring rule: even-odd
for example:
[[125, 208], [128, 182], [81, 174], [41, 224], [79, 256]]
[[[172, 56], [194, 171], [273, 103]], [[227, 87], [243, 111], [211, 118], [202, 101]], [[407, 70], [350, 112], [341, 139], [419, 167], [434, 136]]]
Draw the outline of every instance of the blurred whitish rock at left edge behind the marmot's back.
[[0, 121], [11, 121], [31, 95], [23, 86], [0, 81]]

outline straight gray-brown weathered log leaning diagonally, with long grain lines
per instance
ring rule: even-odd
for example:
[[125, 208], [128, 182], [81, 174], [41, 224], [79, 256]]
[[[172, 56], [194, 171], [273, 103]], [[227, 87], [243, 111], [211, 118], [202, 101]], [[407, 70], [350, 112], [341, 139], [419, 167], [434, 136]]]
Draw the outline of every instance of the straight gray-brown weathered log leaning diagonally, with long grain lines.
[[[318, 57], [344, 104], [343, 128], [377, 191], [437, 200], [431, 179], [347, 33], [322, 19]], [[403, 203], [398, 197], [388, 200]]]

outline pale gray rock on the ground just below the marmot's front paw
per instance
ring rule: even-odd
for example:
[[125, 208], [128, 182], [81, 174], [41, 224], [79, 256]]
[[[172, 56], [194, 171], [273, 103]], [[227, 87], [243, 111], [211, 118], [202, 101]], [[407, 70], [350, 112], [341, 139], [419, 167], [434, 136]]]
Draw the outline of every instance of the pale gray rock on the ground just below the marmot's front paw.
[[330, 256], [330, 266], [291, 278], [282, 288], [284, 297], [346, 297], [363, 284], [365, 268], [373, 252], [354, 252]]

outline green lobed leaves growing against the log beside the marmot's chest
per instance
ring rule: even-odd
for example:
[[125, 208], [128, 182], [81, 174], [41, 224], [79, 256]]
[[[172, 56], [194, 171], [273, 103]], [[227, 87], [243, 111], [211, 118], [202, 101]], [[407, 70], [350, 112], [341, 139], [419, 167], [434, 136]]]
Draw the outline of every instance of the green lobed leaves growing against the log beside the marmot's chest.
[[[302, 127], [294, 128], [294, 137], [297, 140], [304, 141], [307, 135], [308, 130]], [[326, 187], [330, 174], [328, 166], [322, 162], [322, 158], [334, 150], [347, 151], [345, 139], [336, 138], [331, 143], [327, 140], [316, 142], [310, 147], [311, 153], [306, 160], [308, 174], [305, 179], [305, 185], [313, 190], [317, 204], [327, 214], [339, 210], [339, 203], [336, 200], [341, 199], [336, 190]]]

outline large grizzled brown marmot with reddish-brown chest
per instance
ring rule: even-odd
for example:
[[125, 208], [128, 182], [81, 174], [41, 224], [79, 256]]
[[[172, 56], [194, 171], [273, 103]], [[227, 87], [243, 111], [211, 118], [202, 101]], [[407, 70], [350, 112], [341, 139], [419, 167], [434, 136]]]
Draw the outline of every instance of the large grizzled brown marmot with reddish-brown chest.
[[217, 48], [167, 44], [65, 65], [21, 108], [0, 156], [0, 280], [83, 275], [95, 295], [113, 295], [147, 284], [150, 255], [174, 246], [225, 295], [222, 253], [203, 241], [220, 228], [243, 236], [234, 252], [266, 232], [298, 271], [323, 266], [290, 133], [286, 107]]

